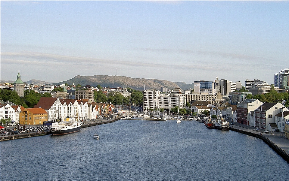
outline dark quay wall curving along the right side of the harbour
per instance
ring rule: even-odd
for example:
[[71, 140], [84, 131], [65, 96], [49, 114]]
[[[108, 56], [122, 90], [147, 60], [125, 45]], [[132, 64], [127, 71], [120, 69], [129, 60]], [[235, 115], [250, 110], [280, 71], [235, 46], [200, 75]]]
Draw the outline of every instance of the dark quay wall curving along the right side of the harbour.
[[268, 146], [270, 146], [278, 155], [280, 155], [284, 160], [286, 160], [287, 162], [289, 162], [289, 154], [287, 152], [285, 152], [284, 150], [282, 150], [280, 147], [278, 147], [275, 143], [273, 143], [271, 140], [269, 140], [268, 138], [264, 137], [261, 134], [256, 134], [256, 133], [252, 133], [249, 131], [244, 131], [244, 130], [240, 130], [240, 129], [236, 129], [236, 128], [232, 128], [230, 127], [230, 130], [232, 131], [236, 131], [242, 134], [247, 134], [256, 138], [259, 138], [261, 140], [263, 140]]

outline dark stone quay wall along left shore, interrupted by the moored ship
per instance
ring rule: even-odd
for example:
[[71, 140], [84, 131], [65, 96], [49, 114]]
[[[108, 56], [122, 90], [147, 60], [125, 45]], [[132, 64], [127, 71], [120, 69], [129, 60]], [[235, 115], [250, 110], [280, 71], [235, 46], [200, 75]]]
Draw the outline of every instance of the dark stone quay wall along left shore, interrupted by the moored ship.
[[[86, 127], [95, 126], [95, 125], [107, 124], [107, 123], [115, 122], [117, 120], [120, 120], [120, 118], [111, 119], [111, 120], [96, 121], [96, 122], [89, 121], [89, 123], [83, 124], [81, 126], [81, 128], [86, 128]], [[48, 135], [48, 134], [51, 134], [51, 131], [40, 132], [40, 133], [13, 134], [13, 135], [9, 135], [9, 136], [1, 136], [0, 137], [0, 141], [14, 140], [14, 139], [20, 139], [20, 138], [28, 138], [28, 137], [34, 137], [34, 136], [43, 136], [43, 135]]]

